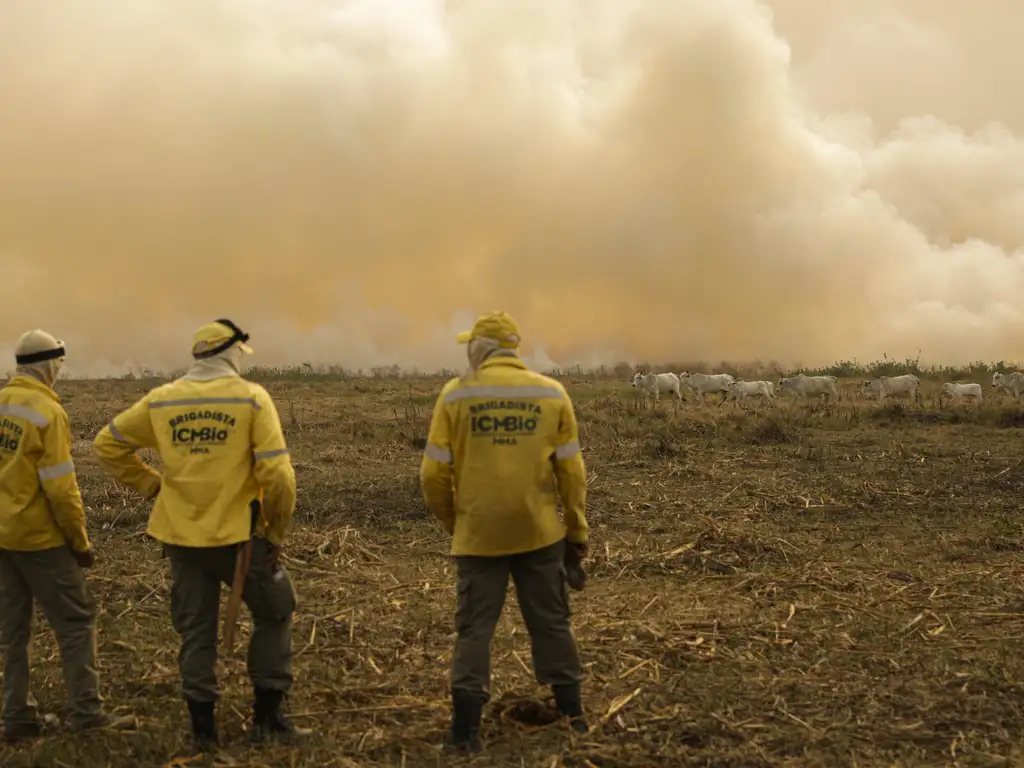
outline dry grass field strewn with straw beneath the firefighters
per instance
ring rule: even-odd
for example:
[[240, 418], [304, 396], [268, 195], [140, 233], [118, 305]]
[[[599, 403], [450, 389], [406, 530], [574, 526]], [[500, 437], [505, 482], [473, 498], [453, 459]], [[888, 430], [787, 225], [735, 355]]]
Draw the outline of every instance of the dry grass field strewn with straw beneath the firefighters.
[[[979, 379], [980, 380], [980, 379]], [[268, 380], [299, 481], [301, 751], [250, 751], [244, 653], [222, 659], [234, 766], [434, 766], [447, 727], [454, 572], [417, 470], [439, 378]], [[628, 383], [563, 377], [590, 473], [591, 582], [573, 593], [592, 731], [550, 722], [515, 598], [494, 645], [489, 766], [1020, 764], [1024, 415], [986, 402], [641, 408]], [[983, 380], [982, 380], [983, 381]], [[60, 734], [10, 766], [200, 765], [178, 694], [168, 568], [147, 507], [90, 454], [154, 382], [65, 382], [101, 558], [103, 692], [137, 731]], [[226, 592], [226, 590], [225, 590]], [[243, 610], [243, 643], [248, 614]], [[40, 623], [42, 628], [44, 625]], [[52, 635], [34, 689], [59, 711]]]

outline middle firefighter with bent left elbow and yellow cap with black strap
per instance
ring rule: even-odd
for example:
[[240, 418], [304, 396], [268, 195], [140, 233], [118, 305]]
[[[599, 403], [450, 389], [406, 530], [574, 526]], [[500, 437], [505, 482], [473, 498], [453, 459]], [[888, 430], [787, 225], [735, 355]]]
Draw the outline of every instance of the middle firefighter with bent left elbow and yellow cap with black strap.
[[[214, 667], [221, 584], [230, 584], [241, 546], [252, 564], [243, 600], [253, 616], [248, 669], [255, 693], [250, 737], [306, 736], [281, 712], [292, 686], [292, 582], [278, 562], [295, 512], [295, 471], [273, 400], [242, 378], [249, 335], [228, 319], [203, 326], [195, 362], [150, 391], [95, 439], [100, 462], [141, 496], [156, 499], [147, 532], [171, 563], [171, 618], [181, 637], [182, 694], [200, 749], [217, 744]], [[155, 450], [163, 474], [136, 455]], [[255, 522], [255, 527], [253, 527]]]

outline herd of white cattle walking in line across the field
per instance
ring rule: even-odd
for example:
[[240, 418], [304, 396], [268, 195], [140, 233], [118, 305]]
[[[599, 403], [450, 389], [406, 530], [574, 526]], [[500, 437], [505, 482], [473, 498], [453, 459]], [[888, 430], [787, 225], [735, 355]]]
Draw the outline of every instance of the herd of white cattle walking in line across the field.
[[[996, 387], [1007, 394], [1013, 396], [1015, 400], [1020, 400], [1024, 394], [1024, 374], [1021, 373], [994, 373], [992, 374], [993, 387]], [[681, 374], [645, 374], [637, 372], [633, 377], [633, 386], [638, 387], [644, 393], [644, 397], [654, 395], [654, 401], [660, 399], [662, 392], [674, 392], [679, 400], [683, 400], [683, 390], [692, 392], [700, 402], [705, 401], [707, 394], [719, 394], [721, 399], [719, 406], [727, 399], [744, 400], [748, 397], [761, 397], [764, 400], [774, 401], [776, 384], [770, 381], [743, 381], [730, 374], [690, 374], [685, 371]], [[828, 402], [833, 399], [839, 400], [841, 397], [839, 379], [835, 376], [783, 376], [778, 380], [779, 391], [792, 391], [797, 397], [806, 399], [808, 397], [824, 397]], [[924, 402], [921, 393], [921, 379], [913, 374], [903, 374], [902, 376], [881, 376], [878, 379], [868, 379], [860, 386], [860, 392], [866, 397], [872, 395], [881, 400], [887, 397], [909, 397], [913, 401]], [[940, 402], [949, 397], [955, 402], [964, 398], [971, 398], [978, 402], [982, 399], [981, 384], [958, 382], [946, 382], [939, 391]]]

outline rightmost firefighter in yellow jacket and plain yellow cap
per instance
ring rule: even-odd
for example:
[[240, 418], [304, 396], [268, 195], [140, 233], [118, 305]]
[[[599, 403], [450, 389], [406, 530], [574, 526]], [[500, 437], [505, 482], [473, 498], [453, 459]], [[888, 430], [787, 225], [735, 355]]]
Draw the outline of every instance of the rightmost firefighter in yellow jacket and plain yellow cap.
[[473, 754], [483, 749], [490, 641], [510, 575], [538, 682], [552, 687], [575, 730], [588, 729], [563, 564], [566, 546], [587, 554], [587, 476], [568, 393], [519, 359], [512, 317], [483, 314], [459, 342], [468, 345], [470, 370], [437, 397], [420, 482], [452, 535], [459, 583], [451, 738]]

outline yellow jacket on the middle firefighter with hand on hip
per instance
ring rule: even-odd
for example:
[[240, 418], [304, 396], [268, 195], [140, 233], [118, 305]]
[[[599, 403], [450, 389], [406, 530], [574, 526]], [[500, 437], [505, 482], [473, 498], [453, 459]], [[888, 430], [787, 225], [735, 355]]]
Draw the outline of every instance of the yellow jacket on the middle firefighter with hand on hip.
[[[96, 435], [99, 461], [146, 499], [147, 532], [164, 544], [220, 547], [256, 532], [282, 544], [295, 513], [295, 470], [267, 391], [240, 376], [178, 379], [148, 392]], [[155, 450], [163, 475], [136, 456]]]

